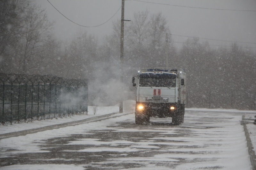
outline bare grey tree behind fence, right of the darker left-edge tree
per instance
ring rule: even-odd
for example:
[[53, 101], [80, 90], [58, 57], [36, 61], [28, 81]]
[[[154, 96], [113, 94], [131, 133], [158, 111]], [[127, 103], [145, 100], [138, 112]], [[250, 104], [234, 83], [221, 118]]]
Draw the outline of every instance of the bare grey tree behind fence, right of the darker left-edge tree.
[[50, 22], [45, 10], [35, 4], [24, 9], [22, 18], [19, 65], [22, 73], [28, 74], [38, 68], [45, 58], [44, 52], [54, 46], [51, 35], [54, 22]]

